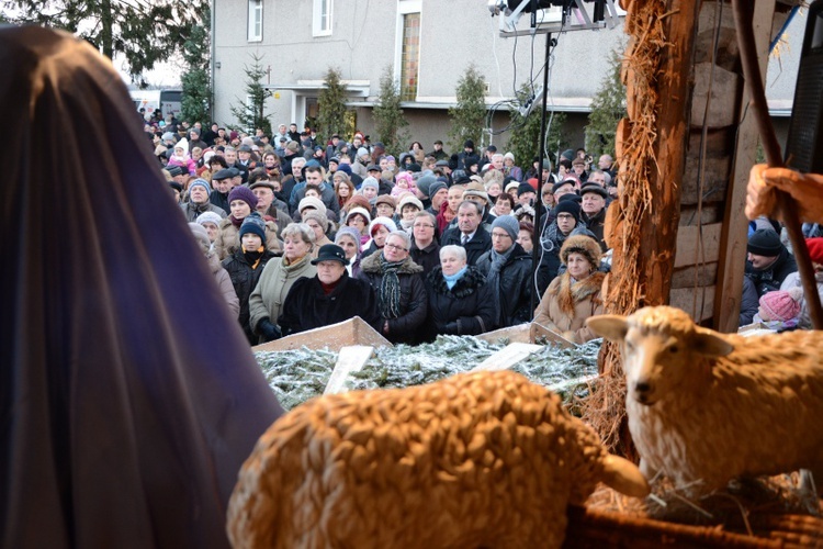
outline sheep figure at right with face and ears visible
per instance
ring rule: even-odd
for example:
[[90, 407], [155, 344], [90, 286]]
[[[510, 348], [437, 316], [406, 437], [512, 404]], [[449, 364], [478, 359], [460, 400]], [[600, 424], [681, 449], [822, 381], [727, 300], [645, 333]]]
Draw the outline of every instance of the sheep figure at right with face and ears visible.
[[629, 430], [647, 479], [662, 471], [697, 495], [809, 469], [823, 488], [823, 333], [719, 334], [667, 306], [587, 324], [622, 344]]

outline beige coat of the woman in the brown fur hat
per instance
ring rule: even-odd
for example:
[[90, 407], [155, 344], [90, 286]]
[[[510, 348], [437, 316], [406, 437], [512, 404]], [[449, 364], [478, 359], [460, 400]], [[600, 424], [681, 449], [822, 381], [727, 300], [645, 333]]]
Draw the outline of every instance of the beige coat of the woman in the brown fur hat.
[[534, 322], [576, 344], [595, 339], [597, 336], [584, 323], [589, 316], [602, 314], [600, 289], [605, 278], [597, 271], [570, 288], [568, 272], [556, 277], [534, 310]]

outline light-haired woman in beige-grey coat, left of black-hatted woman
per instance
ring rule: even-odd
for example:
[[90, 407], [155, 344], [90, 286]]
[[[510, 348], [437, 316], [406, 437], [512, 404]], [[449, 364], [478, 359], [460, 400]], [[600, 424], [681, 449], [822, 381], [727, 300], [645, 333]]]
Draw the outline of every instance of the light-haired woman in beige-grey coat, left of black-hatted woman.
[[308, 225], [291, 223], [283, 229], [283, 257], [266, 264], [249, 296], [249, 326], [260, 336], [260, 343], [280, 337], [278, 317], [294, 282], [317, 273], [311, 262], [314, 245], [315, 232]]

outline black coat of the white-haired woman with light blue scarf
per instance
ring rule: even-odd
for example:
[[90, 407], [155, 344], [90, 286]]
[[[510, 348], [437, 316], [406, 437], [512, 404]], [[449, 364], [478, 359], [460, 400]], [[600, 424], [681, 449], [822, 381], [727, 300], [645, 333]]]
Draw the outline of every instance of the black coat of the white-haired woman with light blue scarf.
[[495, 325], [495, 299], [486, 277], [476, 267], [469, 267], [454, 287], [443, 279], [443, 269], [435, 267], [426, 277], [429, 293], [429, 316], [426, 340], [439, 334], [474, 336]]

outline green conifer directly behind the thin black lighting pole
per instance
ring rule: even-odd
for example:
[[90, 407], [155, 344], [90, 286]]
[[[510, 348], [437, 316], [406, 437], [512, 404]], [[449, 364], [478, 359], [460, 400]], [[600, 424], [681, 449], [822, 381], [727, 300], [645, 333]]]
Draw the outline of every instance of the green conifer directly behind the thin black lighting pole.
[[[518, 104], [522, 104], [526, 98], [531, 94], [531, 89], [523, 87], [518, 93]], [[538, 157], [540, 148], [540, 123], [541, 123], [541, 110], [542, 102], [539, 105], [534, 105], [528, 116], [523, 117], [520, 111], [511, 109], [509, 111], [511, 116], [511, 135], [508, 143], [506, 144], [506, 150], [510, 150], [515, 155], [515, 163], [520, 166], [523, 173], [531, 169], [532, 160]], [[566, 123], [566, 113], [564, 112], [546, 112], [545, 122], [548, 127], [545, 136], [545, 148], [548, 155], [544, 158], [549, 158], [554, 166], [557, 157], [557, 150], [562, 150], [567, 146], [566, 139], [563, 136], [563, 125]]]

